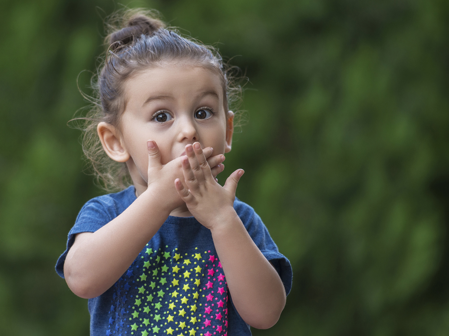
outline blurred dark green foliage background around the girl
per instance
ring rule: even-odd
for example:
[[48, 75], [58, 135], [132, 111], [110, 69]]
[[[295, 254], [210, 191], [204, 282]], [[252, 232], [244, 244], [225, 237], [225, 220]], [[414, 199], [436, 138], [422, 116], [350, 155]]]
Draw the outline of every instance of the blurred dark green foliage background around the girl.
[[[54, 264], [101, 190], [66, 123], [122, 5], [0, 4], [0, 335], [87, 336]], [[449, 2], [123, 4], [218, 42], [250, 79], [219, 177], [246, 170], [237, 195], [294, 269], [281, 319], [253, 334], [448, 335]]]

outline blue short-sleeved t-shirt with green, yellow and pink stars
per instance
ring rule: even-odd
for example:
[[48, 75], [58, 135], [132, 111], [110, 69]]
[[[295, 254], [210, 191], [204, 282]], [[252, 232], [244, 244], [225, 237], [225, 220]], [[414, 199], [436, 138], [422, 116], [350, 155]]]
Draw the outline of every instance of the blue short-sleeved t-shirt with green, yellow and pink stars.
[[[88, 201], [69, 232], [57, 273], [64, 277], [64, 261], [77, 233], [97, 231], [135, 199], [130, 186]], [[290, 262], [250, 206], [236, 198], [234, 209], [288, 294]], [[194, 217], [169, 216], [123, 276], [105, 293], [88, 300], [88, 309], [92, 336], [251, 335], [232, 304], [211, 232]]]

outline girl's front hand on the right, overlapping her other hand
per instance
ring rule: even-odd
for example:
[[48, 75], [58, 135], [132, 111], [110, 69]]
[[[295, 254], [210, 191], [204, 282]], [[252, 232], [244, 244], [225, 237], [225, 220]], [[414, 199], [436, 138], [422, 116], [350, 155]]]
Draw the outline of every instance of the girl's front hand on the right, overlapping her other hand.
[[237, 169], [222, 187], [212, 176], [199, 142], [185, 146], [185, 153], [187, 157], [182, 159], [185, 185], [177, 178], [176, 190], [198, 222], [209, 229], [215, 228], [225, 222], [222, 219], [229, 215], [229, 211], [235, 212], [235, 191], [244, 171]]

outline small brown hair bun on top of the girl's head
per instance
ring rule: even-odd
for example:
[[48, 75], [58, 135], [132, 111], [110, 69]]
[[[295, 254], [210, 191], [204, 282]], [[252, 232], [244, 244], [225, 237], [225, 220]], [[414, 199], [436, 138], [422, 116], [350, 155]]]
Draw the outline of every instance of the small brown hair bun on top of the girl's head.
[[[124, 27], [110, 34], [109, 45], [115, 49], [123, 44], [132, 43], [135, 37], [141, 34], [151, 35], [159, 28], [163, 28], [164, 24], [158, 19], [147, 17], [146, 15], [137, 14], [129, 18]], [[113, 46], [114, 44], [114, 46]]]

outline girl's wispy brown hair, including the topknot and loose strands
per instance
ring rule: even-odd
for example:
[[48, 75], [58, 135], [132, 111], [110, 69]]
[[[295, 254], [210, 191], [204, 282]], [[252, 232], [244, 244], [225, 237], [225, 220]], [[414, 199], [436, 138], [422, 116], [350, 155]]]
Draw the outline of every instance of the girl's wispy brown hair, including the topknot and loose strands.
[[216, 73], [223, 86], [224, 108], [240, 97], [241, 87], [231, 79], [230, 71], [218, 51], [192, 38], [166, 28], [154, 11], [126, 10], [114, 13], [106, 27], [106, 54], [92, 78], [93, 104], [83, 120], [83, 151], [97, 181], [106, 191], [122, 190], [131, 185], [126, 164], [110, 159], [101, 146], [97, 125], [105, 121], [120, 131], [120, 119], [126, 104], [124, 84], [128, 78], [151, 66], [186, 61]]

